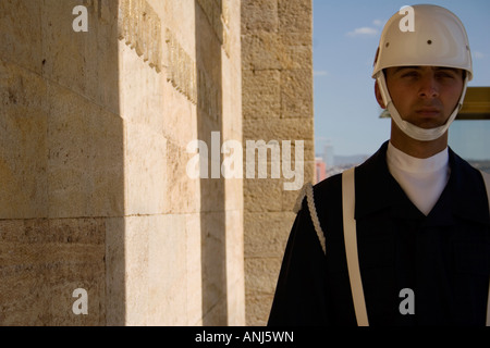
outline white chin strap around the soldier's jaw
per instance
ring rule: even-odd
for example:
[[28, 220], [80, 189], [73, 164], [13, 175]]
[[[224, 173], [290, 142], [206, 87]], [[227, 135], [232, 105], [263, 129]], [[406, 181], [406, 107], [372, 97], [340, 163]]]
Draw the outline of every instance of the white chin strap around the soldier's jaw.
[[465, 100], [466, 95], [466, 88], [468, 86], [468, 77], [466, 77], [463, 86], [463, 94], [460, 98], [460, 102], [457, 103], [457, 107], [454, 110], [454, 112], [449, 117], [448, 122], [443, 126], [425, 129], [417, 127], [415, 124], [402, 120], [402, 116], [400, 116], [399, 111], [396, 110], [395, 105], [393, 104], [393, 101], [391, 100], [383, 72], [380, 72], [378, 74], [377, 80], [381, 92], [381, 97], [383, 98], [384, 104], [387, 105], [387, 109], [391, 114], [391, 119], [395, 122], [399, 128], [402, 129], [403, 133], [405, 133], [411, 138], [420, 141], [431, 141], [439, 139], [441, 136], [445, 134], [445, 132], [448, 132], [449, 127], [456, 119], [457, 113], [463, 107], [463, 101]]

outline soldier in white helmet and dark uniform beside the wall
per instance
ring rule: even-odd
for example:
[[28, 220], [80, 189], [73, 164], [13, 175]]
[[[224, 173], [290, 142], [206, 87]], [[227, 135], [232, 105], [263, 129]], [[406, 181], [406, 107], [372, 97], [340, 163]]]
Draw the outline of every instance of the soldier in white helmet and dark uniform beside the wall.
[[372, 74], [390, 140], [305, 186], [269, 325], [486, 324], [488, 194], [448, 147], [473, 78], [469, 44], [452, 12], [412, 8], [413, 32], [400, 14], [387, 23]]

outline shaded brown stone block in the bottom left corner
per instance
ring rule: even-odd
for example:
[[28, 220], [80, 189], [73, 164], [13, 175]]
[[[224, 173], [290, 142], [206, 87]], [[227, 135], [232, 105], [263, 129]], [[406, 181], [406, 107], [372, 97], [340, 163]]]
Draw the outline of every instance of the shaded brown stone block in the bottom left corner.
[[[0, 221], [0, 325], [105, 325], [101, 219]], [[89, 315], [75, 315], [86, 289]]]

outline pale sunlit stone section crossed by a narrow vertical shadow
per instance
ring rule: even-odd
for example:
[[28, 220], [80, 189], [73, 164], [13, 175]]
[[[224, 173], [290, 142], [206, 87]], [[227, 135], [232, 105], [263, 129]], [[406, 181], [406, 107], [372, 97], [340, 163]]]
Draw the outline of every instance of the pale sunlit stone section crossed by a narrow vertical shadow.
[[[244, 323], [242, 182], [213, 177], [211, 161], [242, 137], [237, 3], [120, 0], [124, 254], [113, 256], [125, 270], [108, 282], [124, 287], [126, 325]], [[196, 156], [207, 175], [189, 174]]]

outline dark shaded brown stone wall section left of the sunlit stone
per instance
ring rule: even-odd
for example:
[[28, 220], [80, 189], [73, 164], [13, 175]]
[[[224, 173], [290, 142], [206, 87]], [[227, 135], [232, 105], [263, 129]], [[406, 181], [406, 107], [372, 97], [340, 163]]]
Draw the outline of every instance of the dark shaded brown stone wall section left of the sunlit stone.
[[[75, 34], [78, 3], [0, 2], [2, 325], [107, 322], [106, 236], [124, 214], [117, 23]], [[89, 315], [72, 312], [77, 288]]]

